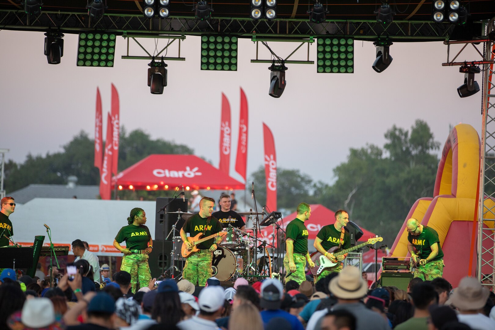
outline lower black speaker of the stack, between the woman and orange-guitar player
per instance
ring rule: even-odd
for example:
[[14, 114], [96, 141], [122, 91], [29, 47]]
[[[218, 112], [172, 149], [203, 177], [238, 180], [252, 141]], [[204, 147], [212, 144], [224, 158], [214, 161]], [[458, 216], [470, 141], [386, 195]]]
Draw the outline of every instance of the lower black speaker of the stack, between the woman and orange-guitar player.
[[[162, 254], [162, 247], [165, 245], [164, 248], [164, 254]], [[177, 241], [175, 242], [175, 248], [176, 250], [179, 251], [181, 250], [182, 242], [178, 243]], [[172, 242], [169, 240], [153, 240], [153, 251], [149, 254], [149, 259], [148, 259], [148, 265], [149, 265], [149, 272], [151, 273], [151, 278], [159, 278], [162, 275], [162, 265], [163, 265], [163, 270], [166, 271], [170, 265], [170, 250], [172, 249]], [[176, 253], [177, 254], [177, 253]], [[174, 278], [178, 277], [180, 272], [182, 272], [182, 269], [184, 267], [184, 264], [186, 263], [186, 259], [179, 259], [175, 260], [176, 257], [174, 256], [174, 265], [178, 268], [177, 270], [174, 270]], [[166, 277], [171, 278], [170, 271], [166, 272]]]

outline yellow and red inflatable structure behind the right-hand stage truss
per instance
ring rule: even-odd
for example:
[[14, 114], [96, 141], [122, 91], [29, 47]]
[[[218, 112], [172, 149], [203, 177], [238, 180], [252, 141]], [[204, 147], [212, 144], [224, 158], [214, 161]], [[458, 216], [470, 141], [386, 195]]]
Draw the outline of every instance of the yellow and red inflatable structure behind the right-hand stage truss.
[[[419, 198], [414, 203], [389, 256], [409, 256], [405, 227], [407, 219], [415, 218], [438, 232], [445, 254], [444, 278], [456, 287], [468, 274], [481, 152], [480, 138], [471, 125], [459, 124], [452, 129], [442, 151], [433, 198]], [[485, 202], [485, 212], [487, 206], [493, 207], [494, 201]], [[492, 217], [489, 214], [491, 212], [486, 218], [493, 219], [493, 214]], [[485, 223], [485, 226], [493, 228], [493, 223]], [[490, 248], [488, 242], [486, 248]], [[476, 254], [474, 258], [473, 276], [476, 274]], [[487, 272], [491, 273], [488, 269]]]

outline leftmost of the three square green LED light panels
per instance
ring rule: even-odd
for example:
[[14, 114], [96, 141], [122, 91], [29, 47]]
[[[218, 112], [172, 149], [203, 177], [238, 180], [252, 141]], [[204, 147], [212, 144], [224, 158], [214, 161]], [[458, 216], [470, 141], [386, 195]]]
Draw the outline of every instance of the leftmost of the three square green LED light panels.
[[113, 67], [115, 35], [81, 33], [77, 49], [77, 66]]

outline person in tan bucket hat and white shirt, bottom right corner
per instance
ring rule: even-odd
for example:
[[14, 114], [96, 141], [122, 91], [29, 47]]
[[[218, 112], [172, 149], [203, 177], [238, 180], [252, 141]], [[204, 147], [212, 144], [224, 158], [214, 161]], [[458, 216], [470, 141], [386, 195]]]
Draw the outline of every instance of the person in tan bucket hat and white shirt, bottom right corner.
[[459, 322], [467, 324], [473, 330], [495, 329], [495, 321], [480, 313], [489, 295], [490, 291], [476, 278], [463, 278], [450, 297], [452, 305], [459, 310]]

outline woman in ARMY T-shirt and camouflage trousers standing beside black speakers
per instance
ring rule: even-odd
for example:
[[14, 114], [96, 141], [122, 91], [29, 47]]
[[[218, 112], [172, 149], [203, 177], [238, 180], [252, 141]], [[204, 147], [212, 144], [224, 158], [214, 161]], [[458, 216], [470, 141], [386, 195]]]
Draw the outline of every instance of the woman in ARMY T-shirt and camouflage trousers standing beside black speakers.
[[[153, 250], [153, 240], [146, 224], [146, 213], [142, 208], [135, 207], [127, 218], [127, 226], [120, 229], [113, 240], [113, 246], [124, 253], [121, 271], [131, 274], [132, 293], [136, 293], [136, 285], [139, 287], [149, 285], [151, 274], [149, 273], [148, 254]], [[126, 247], [120, 246], [125, 241]]]

